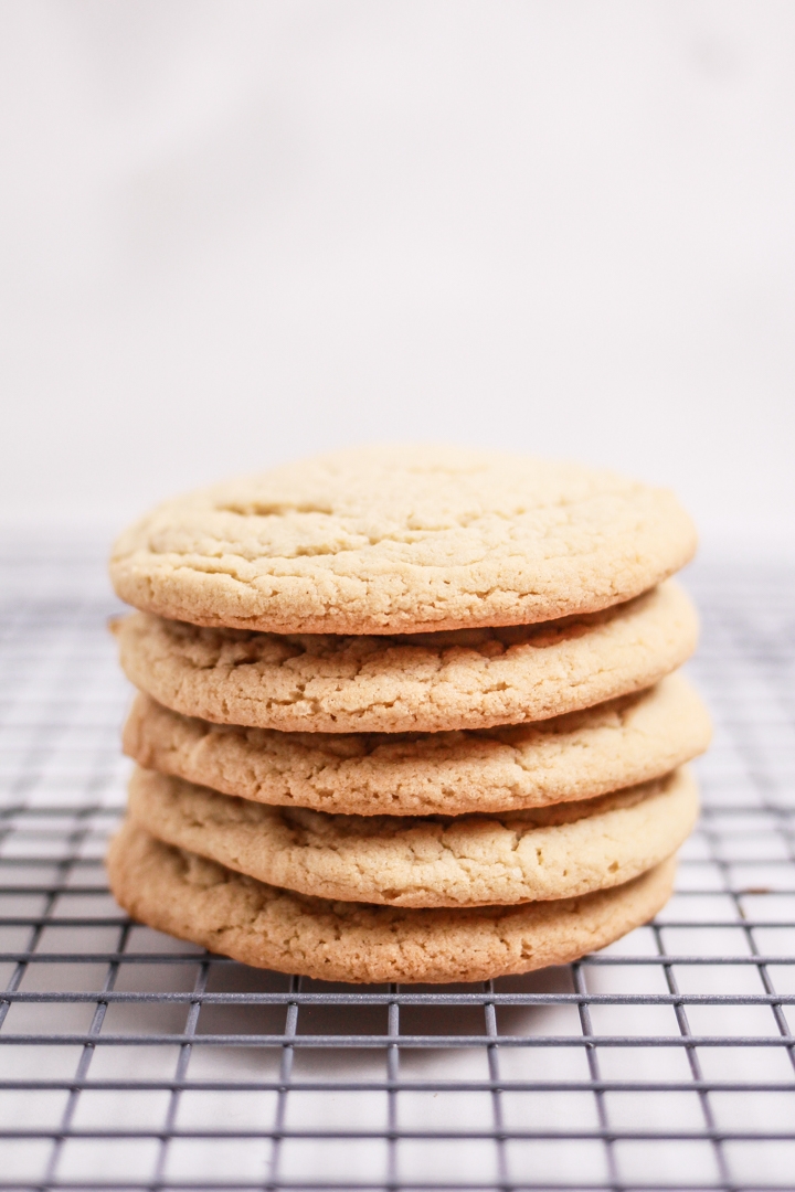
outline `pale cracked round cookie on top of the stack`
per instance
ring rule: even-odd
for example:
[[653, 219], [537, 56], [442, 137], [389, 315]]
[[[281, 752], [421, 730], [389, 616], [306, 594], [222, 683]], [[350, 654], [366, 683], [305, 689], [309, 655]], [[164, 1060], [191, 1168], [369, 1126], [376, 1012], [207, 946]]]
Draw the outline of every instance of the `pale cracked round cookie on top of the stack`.
[[116, 542], [144, 611], [273, 633], [520, 625], [639, 595], [692, 555], [667, 490], [505, 452], [365, 447], [166, 502]]

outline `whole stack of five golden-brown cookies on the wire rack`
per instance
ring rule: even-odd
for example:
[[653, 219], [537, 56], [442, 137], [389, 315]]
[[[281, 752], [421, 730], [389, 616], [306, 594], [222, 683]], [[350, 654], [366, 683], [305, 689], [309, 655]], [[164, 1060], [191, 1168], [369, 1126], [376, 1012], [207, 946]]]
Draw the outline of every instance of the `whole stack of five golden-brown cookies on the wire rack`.
[[480, 981], [665, 902], [707, 714], [664, 490], [498, 452], [337, 452], [122, 535], [136, 919], [333, 981]]

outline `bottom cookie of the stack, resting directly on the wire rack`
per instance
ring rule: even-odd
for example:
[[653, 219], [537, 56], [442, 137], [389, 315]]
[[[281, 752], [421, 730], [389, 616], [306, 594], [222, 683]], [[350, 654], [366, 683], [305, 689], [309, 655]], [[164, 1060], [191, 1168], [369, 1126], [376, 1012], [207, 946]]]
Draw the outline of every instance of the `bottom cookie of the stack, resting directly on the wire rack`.
[[443, 982], [528, 973], [604, 948], [667, 901], [675, 863], [578, 899], [417, 911], [277, 889], [128, 820], [107, 870], [132, 918], [246, 964], [327, 981]]

